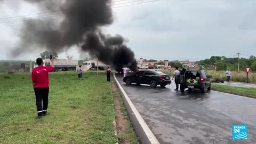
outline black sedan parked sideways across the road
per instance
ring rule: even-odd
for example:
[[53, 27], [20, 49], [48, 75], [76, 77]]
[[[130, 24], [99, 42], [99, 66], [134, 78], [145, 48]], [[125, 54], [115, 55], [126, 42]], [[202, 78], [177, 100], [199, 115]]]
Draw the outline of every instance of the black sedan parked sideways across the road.
[[156, 87], [157, 85], [161, 85], [161, 87], [165, 87], [167, 84], [171, 84], [171, 77], [162, 73], [161, 71], [154, 70], [140, 70], [136, 73], [129, 73], [126, 77], [123, 78], [123, 81], [127, 85], [131, 85], [132, 83], [136, 84], [149, 84], [151, 87]]

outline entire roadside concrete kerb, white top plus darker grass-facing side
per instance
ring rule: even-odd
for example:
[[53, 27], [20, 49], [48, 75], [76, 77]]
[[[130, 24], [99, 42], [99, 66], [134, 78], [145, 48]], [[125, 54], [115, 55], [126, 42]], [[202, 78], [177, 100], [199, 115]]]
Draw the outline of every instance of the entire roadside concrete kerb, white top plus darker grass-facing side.
[[119, 87], [119, 90], [122, 93], [123, 101], [124, 101], [124, 106], [129, 114], [129, 118], [132, 121], [132, 125], [139, 137], [139, 141], [141, 143], [151, 143], [151, 144], [158, 144], [158, 140], [156, 139], [155, 135], [153, 132], [149, 129], [148, 125], [144, 121], [144, 119], [141, 117], [139, 111], [135, 108], [133, 105], [132, 101], [124, 91], [123, 87], [121, 84], [117, 81], [116, 76], [114, 74], [114, 78], [116, 81], [117, 86]]

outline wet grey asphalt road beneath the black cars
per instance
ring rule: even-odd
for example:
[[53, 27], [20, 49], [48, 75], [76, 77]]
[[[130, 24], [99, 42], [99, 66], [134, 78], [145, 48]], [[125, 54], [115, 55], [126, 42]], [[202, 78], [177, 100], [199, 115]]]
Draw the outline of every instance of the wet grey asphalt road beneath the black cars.
[[[160, 143], [256, 143], [256, 99], [211, 91], [180, 93], [119, 83]], [[248, 139], [232, 140], [232, 125], [247, 124]]]

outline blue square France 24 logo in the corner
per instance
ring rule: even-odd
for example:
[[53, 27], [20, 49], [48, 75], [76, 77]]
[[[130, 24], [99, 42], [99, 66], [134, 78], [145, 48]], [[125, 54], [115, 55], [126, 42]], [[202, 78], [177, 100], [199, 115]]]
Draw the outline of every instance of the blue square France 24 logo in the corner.
[[247, 125], [232, 125], [233, 140], [247, 140]]

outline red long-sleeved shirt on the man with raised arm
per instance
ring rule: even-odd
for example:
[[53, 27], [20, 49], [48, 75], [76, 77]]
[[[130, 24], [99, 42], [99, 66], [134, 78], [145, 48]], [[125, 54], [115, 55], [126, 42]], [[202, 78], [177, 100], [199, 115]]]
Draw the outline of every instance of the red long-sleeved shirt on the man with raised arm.
[[53, 67], [37, 67], [32, 71], [32, 81], [36, 83], [34, 88], [49, 87], [48, 73], [54, 70]]

